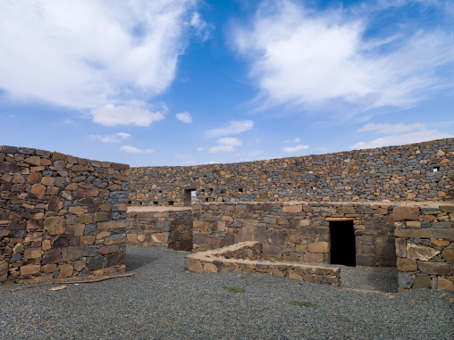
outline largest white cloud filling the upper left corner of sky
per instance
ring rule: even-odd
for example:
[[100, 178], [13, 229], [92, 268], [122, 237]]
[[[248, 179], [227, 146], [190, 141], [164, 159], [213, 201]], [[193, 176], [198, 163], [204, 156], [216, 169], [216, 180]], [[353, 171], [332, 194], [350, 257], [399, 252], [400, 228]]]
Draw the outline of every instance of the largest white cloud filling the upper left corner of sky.
[[195, 5], [193, 0], [3, 2], [0, 88], [14, 100], [82, 109], [149, 100], [175, 77]]

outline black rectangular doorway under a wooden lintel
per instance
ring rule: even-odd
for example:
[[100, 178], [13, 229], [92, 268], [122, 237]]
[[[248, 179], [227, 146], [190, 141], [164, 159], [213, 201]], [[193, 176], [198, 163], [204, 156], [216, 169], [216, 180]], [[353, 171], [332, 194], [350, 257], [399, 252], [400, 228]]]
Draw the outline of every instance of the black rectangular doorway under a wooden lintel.
[[353, 221], [330, 221], [330, 238], [330, 263], [356, 267], [357, 246]]

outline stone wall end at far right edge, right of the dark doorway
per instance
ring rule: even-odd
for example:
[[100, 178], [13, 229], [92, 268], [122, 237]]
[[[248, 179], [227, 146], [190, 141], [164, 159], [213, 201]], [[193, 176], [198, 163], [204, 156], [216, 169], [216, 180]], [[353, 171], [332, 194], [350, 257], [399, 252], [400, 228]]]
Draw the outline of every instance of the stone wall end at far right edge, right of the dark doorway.
[[454, 204], [394, 209], [399, 291], [454, 291]]

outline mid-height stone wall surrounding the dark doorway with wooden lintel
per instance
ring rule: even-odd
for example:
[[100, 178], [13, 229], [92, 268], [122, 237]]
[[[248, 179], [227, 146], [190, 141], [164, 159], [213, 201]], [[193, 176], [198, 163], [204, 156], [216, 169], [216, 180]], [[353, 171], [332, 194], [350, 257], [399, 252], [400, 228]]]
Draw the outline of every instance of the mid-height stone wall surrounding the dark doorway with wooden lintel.
[[258, 241], [270, 259], [329, 263], [330, 221], [352, 220], [357, 265], [395, 266], [392, 208], [390, 202], [194, 204], [194, 250]]

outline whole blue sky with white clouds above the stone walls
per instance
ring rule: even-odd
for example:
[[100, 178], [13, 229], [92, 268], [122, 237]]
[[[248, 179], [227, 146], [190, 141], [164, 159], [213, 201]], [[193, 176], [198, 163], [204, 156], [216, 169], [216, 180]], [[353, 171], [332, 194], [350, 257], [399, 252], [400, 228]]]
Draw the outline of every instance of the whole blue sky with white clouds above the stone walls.
[[454, 3], [0, 3], [0, 145], [131, 166], [454, 135]]

